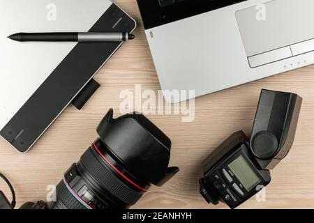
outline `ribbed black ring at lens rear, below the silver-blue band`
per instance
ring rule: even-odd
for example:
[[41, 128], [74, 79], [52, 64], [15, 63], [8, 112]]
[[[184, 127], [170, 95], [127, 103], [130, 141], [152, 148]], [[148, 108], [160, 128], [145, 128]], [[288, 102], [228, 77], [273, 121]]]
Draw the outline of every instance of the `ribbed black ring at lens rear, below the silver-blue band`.
[[87, 209], [68, 191], [63, 180], [57, 185], [57, 203], [61, 201], [68, 209]]

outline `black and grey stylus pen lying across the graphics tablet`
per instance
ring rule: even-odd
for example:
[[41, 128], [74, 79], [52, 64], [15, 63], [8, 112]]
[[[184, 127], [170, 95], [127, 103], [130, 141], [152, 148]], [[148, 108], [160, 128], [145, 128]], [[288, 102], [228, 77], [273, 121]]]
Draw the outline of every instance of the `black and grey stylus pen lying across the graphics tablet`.
[[121, 42], [133, 40], [130, 33], [15, 33], [8, 36], [15, 41], [33, 42]]

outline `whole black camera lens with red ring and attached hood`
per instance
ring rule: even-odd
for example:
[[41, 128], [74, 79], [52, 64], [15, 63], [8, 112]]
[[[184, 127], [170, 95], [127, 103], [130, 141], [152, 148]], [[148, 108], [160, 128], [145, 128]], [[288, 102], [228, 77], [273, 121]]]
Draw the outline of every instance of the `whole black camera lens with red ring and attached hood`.
[[167, 167], [170, 139], [142, 114], [113, 119], [110, 110], [98, 126], [99, 138], [57, 185], [54, 209], [128, 208], [151, 183], [163, 185], [179, 171]]

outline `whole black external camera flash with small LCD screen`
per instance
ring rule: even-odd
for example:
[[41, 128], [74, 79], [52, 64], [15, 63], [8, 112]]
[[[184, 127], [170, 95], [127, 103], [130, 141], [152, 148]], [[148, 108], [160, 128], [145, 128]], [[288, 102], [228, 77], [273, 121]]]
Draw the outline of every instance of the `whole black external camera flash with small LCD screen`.
[[235, 132], [202, 163], [200, 194], [208, 202], [236, 208], [271, 181], [274, 169], [292, 147], [302, 98], [262, 90], [250, 141]]

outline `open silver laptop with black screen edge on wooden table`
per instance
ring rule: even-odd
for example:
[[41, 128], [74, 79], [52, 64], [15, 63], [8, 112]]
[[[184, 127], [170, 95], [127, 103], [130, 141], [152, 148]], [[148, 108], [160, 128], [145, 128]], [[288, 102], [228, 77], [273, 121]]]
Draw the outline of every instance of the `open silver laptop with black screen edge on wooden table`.
[[314, 63], [313, 0], [137, 0], [161, 88], [179, 102]]

